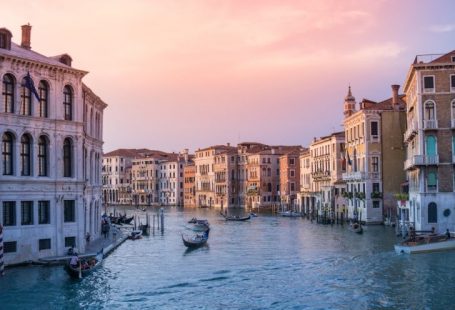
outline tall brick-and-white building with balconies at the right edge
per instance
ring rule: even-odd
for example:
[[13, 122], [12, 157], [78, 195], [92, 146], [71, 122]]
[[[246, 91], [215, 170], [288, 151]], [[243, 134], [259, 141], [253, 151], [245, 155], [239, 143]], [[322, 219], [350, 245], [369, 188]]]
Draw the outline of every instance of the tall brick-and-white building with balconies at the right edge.
[[[455, 226], [455, 51], [416, 56], [404, 92], [407, 98], [409, 201], [402, 218], [416, 230]], [[403, 200], [405, 200], [403, 198]]]

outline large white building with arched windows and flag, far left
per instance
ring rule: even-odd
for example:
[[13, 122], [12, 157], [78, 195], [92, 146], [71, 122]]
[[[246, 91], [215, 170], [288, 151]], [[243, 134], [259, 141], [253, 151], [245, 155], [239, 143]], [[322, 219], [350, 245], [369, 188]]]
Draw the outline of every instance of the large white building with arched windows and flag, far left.
[[[100, 235], [103, 110], [82, 83], [86, 71], [63, 54], [31, 50], [0, 29], [0, 222], [5, 263], [85, 251], [86, 233]], [[29, 75], [28, 75], [29, 74]], [[34, 83], [36, 91], [31, 83]]]

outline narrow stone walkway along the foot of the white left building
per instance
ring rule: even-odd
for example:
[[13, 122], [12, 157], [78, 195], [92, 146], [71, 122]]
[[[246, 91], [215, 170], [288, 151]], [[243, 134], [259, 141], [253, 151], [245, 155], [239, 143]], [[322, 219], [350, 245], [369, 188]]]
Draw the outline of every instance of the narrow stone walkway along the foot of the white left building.
[[[115, 250], [118, 246], [120, 246], [123, 242], [128, 239], [128, 235], [130, 234], [131, 228], [130, 227], [122, 227], [118, 225], [111, 225], [109, 233], [105, 238], [101, 235], [100, 238], [90, 241], [85, 248], [84, 254], [79, 254], [79, 257], [90, 257], [96, 255], [101, 249], [103, 249], [104, 257], [108, 256], [113, 250]], [[71, 256], [69, 255], [62, 255], [62, 256], [49, 256], [40, 258], [37, 264], [51, 264], [51, 265], [58, 265], [66, 263]]]

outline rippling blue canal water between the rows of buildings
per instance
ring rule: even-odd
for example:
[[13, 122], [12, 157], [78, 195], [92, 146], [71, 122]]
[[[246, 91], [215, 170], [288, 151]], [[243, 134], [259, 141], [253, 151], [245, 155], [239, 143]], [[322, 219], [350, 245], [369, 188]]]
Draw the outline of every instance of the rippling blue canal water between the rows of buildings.
[[[132, 210], [128, 210], [131, 213]], [[211, 223], [189, 251], [192, 217]], [[455, 252], [397, 255], [390, 227], [262, 215], [226, 222], [214, 210], [165, 210], [164, 233], [126, 241], [73, 280], [61, 266], [7, 269], [0, 309], [453, 309]]]

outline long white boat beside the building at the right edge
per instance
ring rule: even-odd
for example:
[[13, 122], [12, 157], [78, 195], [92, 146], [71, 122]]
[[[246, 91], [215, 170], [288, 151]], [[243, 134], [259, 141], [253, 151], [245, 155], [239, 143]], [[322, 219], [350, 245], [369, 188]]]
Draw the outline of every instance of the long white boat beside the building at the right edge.
[[398, 254], [414, 254], [425, 252], [447, 251], [455, 249], [455, 238], [447, 235], [417, 235], [395, 245]]

